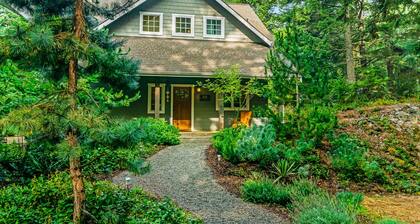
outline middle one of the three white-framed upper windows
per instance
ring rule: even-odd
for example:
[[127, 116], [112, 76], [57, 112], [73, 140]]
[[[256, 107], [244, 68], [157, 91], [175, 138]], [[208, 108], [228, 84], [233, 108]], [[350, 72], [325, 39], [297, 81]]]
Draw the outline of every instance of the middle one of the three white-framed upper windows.
[[173, 36], [194, 36], [194, 16], [193, 15], [172, 15], [172, 35]]

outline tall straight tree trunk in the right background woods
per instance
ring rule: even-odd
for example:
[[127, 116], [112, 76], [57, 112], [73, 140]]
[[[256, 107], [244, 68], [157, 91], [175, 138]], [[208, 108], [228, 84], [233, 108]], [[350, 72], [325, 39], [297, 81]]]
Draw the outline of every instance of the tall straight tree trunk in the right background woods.
[[346, 48], [346, 65], [347, 65], [347, 80], [350, 83], [356, 82], [356, 72], [354, 69], [353, 59], [353, 42], [350, 23], [350, 6], [346, 7], [346, 24], [345, 24], [345, 48]]

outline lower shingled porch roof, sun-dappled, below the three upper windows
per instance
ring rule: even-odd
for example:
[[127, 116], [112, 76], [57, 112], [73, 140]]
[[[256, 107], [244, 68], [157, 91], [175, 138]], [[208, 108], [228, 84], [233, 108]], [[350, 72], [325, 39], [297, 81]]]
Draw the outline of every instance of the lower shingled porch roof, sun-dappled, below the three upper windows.
[[244, 76], [263, 78], [269, 48], [251, 42], [116, 37], [141, 60], [142, 75], [203, 77], [239, 65]]

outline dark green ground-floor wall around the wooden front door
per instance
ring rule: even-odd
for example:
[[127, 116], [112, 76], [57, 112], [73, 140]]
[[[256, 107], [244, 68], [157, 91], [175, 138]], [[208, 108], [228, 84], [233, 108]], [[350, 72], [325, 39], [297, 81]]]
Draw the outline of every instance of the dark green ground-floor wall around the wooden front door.
[[[162, 118], [170, 122], [171, 118], [171, 95], [167, 95], [167, 91], [171, 91], [172, 84], [193, 84], [197, 81], [204, 82], [205, 79], [200, 78], [168, 78], [168, 77], [143, 77], [140, 80], [139, 91], [141, 98], [132, 103], [129, 107], [118, 108], [112, 111], [112, 115], [123, 118], [134, 117], [153, 117], [154, 114], [147, 113], [147, 84], [161, 83], [166, 84], [165, 96], [165, 114], [161, 114]], [[200, 95], [209, 95], [209, 101], [200, 101]], [[259, 97], [252, 97], [250, 100], [250, 110], [254, 110], [259, 106], [266, 105], [267, 101]], [[230, 126], [235, 118], [234, 111], [225, 112], [225, 124]], [[218, 129], [219, 112], [216, 111], [216, 96], [206, 89], [201, 88], [201, 92], [194, 91], [194, 129], [196, 131], [216, 131]], [[253, 123], [258, 124], [258, 119], [254, 118]]]

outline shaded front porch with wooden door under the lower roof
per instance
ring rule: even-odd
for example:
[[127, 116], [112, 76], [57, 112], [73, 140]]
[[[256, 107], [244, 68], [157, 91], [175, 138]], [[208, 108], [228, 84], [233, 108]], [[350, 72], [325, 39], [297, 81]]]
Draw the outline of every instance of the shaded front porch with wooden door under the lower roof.
[[[115, 116], [159, 117], [184, 132], [214, 132], [219, 129], [218, 103], [222, 102], [214, 93], [197, 86], [208, 78], [195, 77], [142, 77], [141, 98], [130, 107], [113, 111]], [[218, 102], [219, 101], [219, 102]], [[242, 111], [266, 104], [266, 100], [250, 96]], [[225, 105], [225, 126], [229, 127], [237, 118], [235, 105]], [[250, 117], [251, 124], [262, 121]]]

